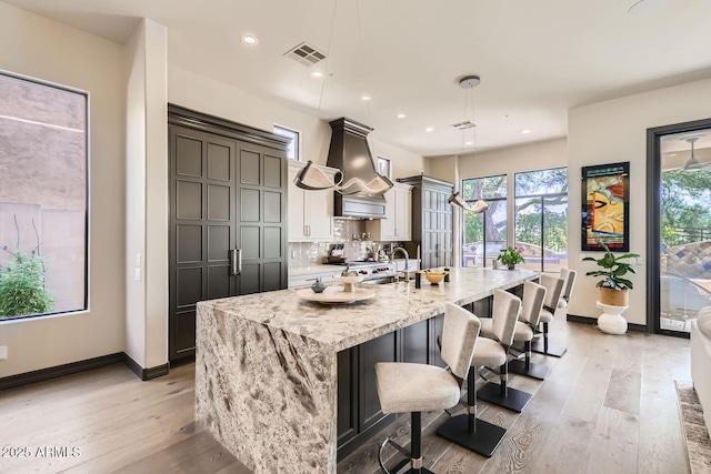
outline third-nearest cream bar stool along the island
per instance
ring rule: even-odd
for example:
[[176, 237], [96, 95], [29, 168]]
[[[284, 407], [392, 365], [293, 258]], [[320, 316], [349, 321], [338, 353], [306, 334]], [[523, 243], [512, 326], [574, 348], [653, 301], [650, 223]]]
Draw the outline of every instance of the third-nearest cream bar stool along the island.
[[[518, 297], [517, 297], [518, 300]], [[519, 302], [519, 306], [521, 303]], [[509, 320], [507, 320], [507, 317]], [[504, 409], [513, 410], [521, 413], [525, 405], [531, 401], [532, 395], [520, 390], [510, 389], [507, 386], [509, 374], [509, 352], [513, 341], [515, 341], [517, 332], [525, 332], [528, 327], [525, 324], [518, 322], [519, 312], [515, 314], [509, 314], [503, 312], [497, 312], [494, 310], [492, 317], [483, 317], [481, 320], [481, 331], [479, 332], [479, 347], [482, 347], [484, 339], [495, 341], [505, 355], [503, 363], [499, 365], [499, 383], [489, 382], [477, 391], [477, 397], [484, 402], [493, 403], [494, 405], [502, 406]], [[529, 329], [530, 331], [530, 329]], [[533, 337], [532, 331], [531, 337]], [[477, 351], [474, 351], [474, 361], [477, 361]], [[484, 364], [485, 365], [485, 364]], [[490, 369], [491, 365], [485, 365]]]

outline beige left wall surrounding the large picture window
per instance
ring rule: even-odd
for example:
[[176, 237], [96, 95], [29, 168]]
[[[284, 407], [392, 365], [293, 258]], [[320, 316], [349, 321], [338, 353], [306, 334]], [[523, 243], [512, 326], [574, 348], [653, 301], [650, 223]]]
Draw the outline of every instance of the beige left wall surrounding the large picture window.
[[0, 69], [89, 92], [89, 311], [0, 322], [0, 377], [123, 351], [122, 48], [0, 2]]

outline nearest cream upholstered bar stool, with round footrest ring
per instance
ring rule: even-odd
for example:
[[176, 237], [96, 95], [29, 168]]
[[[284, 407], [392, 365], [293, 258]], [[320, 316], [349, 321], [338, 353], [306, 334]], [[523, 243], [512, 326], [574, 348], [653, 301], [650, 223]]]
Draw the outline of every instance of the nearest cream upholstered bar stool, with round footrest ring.
[[[428, 364], [407, 362], [379, 362], [375, 364], [375, 384], [383, 413], [407, 413], [412, 416], [411, 452], [387, 438], [380, 445], [378, 462], [389, 474], [382, 462], [382, 450], [392, 444], [409, 455], [395, 467], [397, 473], [432, 474], [422, 466], [421, 413], [451, 409], [461, 396], [461, 384], [471, 376], [469, 367], [479, 335], [479, 319], [463, 307], [447, 303], [442, 327], [442, 360], [451, 373]], [[410, 467], [407, 468], [408, 462]]]

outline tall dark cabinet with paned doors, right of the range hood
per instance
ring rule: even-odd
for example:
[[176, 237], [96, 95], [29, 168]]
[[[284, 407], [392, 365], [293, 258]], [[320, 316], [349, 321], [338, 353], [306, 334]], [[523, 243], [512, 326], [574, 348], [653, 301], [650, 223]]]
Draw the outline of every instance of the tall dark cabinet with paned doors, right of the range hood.
[[444, 265], [444, 249], [448, 263], [452, 263], [452, 206], [448, 202], [453, 184], [425, 175], [401, 178], [399, 182], [412, 185], [412, 241], [405, 242], [410, 255], [417, 254], [420, 245], [421, 268]]

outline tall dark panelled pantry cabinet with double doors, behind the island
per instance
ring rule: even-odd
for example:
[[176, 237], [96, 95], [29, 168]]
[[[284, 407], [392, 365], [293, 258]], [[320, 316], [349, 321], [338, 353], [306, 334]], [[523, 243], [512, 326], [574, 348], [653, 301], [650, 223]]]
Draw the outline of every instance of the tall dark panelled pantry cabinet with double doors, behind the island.
[[194, 355], [196, 303], [287, 288], [286, 139], [176, 105], [169, 359]]

